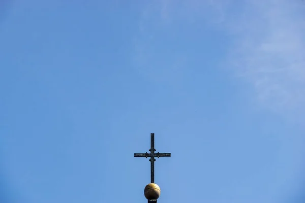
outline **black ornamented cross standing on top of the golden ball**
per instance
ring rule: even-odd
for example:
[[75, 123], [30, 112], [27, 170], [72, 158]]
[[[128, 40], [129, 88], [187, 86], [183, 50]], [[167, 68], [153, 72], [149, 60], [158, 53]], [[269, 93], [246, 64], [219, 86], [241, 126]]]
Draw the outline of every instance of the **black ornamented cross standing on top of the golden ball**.
[[150, 153], [135, 153], [135, 157], [150, 157], [150, 182], [155, 183], [155, 157], [170, 156], [170, 153], [155, 153], [155, 134], [150, 133]]

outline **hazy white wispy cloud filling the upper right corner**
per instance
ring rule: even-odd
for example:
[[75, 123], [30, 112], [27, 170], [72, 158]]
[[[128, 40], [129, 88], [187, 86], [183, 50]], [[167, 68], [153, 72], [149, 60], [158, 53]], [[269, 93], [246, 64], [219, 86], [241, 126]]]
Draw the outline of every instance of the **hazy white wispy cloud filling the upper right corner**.
[[305, 3], [248, 1], [237, 23], [228, 65], [256, 90], [272, 110], [305, 110]]

